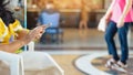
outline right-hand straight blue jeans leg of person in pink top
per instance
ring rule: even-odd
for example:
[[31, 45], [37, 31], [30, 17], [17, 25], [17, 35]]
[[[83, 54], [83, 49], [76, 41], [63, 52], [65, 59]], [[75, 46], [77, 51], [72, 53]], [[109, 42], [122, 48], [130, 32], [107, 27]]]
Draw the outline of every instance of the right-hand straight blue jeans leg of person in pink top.
[[126, 64], [129, 57], [129, 45], [127, 45], [127, 31], [130, 23], [124, 23], [124, 26], [117, 30], [120, 44], [121, 44], [121, 62]]

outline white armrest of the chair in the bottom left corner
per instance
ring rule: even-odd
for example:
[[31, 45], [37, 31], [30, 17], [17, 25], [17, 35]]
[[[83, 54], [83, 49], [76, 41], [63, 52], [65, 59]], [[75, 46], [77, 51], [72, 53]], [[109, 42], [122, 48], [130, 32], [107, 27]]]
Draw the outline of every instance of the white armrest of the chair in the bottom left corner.
[[24, 75], [21, 55], [0, 51], [0, 61], [6, 64], [4, 67], [10, 67], [10, 75]]

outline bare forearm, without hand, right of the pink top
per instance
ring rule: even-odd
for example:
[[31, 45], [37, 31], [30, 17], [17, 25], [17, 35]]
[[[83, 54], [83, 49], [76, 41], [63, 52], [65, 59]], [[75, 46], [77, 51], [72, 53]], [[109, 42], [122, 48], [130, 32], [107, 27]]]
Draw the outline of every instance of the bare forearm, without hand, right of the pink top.
[[121, 15], [121, 18], [120, 18], [120, 20], [121, 21], [123, 21], [124, 20], [124, 18], [126, 17], [126, 14], [127, 14], [127, 12], [130, 11], [130, 9], [132, 8], [132, 0], [126, 0], [126, 4], [125, 4], [125, 7], [124, 7], [124, 9], [123, 9], [123, 13], [122, 13], [122, 15]]

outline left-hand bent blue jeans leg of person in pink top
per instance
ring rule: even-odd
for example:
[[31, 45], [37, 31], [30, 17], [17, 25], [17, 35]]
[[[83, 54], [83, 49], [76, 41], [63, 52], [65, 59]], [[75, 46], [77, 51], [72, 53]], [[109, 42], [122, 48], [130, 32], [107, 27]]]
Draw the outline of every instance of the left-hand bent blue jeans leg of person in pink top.
[[115, 61], [119, 61], [116, 46], [113, 40], [114, 35], [116, 34], [116, 31], [117, 31], [116, 23], [111, 21], [105, 31], [105, 41], [108, 43], [109, 53], [113, 56]]

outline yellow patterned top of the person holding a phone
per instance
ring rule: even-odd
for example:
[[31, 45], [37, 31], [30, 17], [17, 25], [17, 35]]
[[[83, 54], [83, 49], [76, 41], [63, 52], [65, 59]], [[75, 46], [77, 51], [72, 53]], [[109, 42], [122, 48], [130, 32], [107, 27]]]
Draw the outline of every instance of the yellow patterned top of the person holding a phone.
[[[0, 18], [0, 43], [8, 44], [16, 40], [17, 32], [23, 30], [19, 20], [16, 20], [13, 23], [10, 23], [9, 26], [4, 24]], [[18, 53], [18, 51], [16, 52]]]

